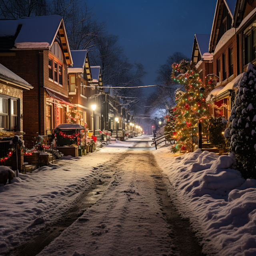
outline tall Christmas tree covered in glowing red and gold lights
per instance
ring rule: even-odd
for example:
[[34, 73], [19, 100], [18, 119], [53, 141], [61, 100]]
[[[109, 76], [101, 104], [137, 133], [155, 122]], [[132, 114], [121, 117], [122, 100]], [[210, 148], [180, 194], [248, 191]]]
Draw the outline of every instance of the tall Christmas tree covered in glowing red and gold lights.
[[194, 150], [192, 135], [198, 135], [195, 134], [195, 127], [198, 122], [205, 126], [208, 125], [209, 104], [206, 102], [206, 97], [213, 90], [215, 80], [214, 76], [209, 76], [208, 85], [204, 85], [194, 64], [185, 60], [180, 64], [172, 64], [172, 68], [172, 79], [182, 85], [182, 88], [176, 91], [175, 96], [174, 116], [177, 143], [173, 151], [180, 148], [183, 152], [192, 152]]

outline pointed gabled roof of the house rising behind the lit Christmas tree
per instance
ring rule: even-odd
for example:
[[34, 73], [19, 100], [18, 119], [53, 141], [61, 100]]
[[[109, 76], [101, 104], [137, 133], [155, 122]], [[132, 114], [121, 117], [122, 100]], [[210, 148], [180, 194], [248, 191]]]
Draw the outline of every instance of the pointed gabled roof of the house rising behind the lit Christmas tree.
[[[206, 56], [204, 54], [209, 53], [209, 50], [208, 50], [209, 40], [210, 40], [210, 35], [195, 34], [192, 57], [191, 57], [192, 62], [197, 63], [199, 60], [204, 60], [204, 56]], [[211, 56], [211, 54], [208, 54], [208, 55]], [[207, 56], [207, 60], [209, 60], [209, 56]]]

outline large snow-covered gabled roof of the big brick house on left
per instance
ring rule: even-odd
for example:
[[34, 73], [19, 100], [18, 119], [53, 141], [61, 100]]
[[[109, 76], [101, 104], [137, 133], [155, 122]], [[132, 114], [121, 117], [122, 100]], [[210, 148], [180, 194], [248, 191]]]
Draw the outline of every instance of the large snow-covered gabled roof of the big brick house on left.
[[51, 48], [57, 33], [68, 65], [72, 57], [64, 22], [59, 15], [22, 17], [18, 20], [0, 20], [0, 48], [47, 49]]

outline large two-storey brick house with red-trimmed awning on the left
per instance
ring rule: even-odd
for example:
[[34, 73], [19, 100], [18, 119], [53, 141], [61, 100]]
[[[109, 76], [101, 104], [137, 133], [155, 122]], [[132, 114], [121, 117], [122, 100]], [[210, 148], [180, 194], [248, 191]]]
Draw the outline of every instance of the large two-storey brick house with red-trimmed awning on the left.
[[[61, 16], [0, 20], [0, 63], [34, 88], [24, 92], [23, 130], [28, 145], [37, 134], [66, 122], [68, 66], [72, 56]], [[31, 146], [31, 145], [29, 145]]]

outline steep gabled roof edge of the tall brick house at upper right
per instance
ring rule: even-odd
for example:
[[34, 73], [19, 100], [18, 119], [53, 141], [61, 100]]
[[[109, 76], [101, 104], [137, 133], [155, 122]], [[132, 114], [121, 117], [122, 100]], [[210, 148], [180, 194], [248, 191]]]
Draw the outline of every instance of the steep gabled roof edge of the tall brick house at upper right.
[[212, 31], [211, 31], [210, 42], [209, 42], [209, 52], [213, 52], [214, 49], [212, 48], [214, 48], [217, 44], [217, 38], [218, 38], [219, 29], [220, 29], [220, 21], [222, 18], [223, 5], [226, 6], [228, 10], [228, 14], [232, 19], [232, 23], [234, 22], [236, 0], [217, 0], [214, 18], [212, 22]]

